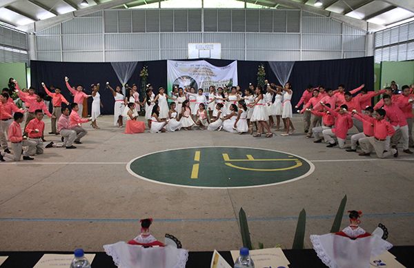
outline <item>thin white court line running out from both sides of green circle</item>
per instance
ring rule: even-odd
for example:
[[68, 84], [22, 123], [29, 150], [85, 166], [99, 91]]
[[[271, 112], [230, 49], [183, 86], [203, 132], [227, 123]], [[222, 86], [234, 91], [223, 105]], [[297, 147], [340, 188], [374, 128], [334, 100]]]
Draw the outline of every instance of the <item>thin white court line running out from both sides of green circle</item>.
[[[308, 160], [309, 162], [357, 162], [357, 161], [413, 161], [414, 158], [367, 158], [367, 159], [327, 159], [327, 160]], [[128, 164], [129, 162], [6, 162], [2, 164]]]

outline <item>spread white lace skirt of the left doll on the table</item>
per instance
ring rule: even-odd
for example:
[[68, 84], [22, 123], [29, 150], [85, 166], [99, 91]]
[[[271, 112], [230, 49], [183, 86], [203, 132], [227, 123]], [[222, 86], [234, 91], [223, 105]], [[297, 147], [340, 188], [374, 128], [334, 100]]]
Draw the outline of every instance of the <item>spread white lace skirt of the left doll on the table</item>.
[[104, 245], [105, 252], [120, 268], [184, 268], [188, 260], [186, 249], [166, 247], [144, 248], [126, 242]]

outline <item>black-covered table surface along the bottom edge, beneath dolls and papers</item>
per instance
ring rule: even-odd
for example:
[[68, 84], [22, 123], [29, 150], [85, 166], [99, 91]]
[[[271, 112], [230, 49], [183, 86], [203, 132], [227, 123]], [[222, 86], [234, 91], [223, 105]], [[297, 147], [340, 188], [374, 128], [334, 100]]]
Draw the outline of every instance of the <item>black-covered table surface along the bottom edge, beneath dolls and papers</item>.
[[[397, 260], [405, 267], [414, 267], [414, 246], [401, 246], [393, 247], [390, 250]], [[33, 267], [37, 261], [45, 253], [57, 253], [57, 254], [72, 254], [72, 252], [62, 251], [1, 251], [0, 256], [9, 256], [9, 258], [1, 265], [1, 268], [26, 268]], [[111, 268], [116, 267], [112, 258], [106, 255], [105, 252], [86, 252], [96, 253], [95, 259], [92, 262], [92, 267]], [[230, 251], [219, 251], [221, 256], [227, 260], [230, 265], [233, 266], [233, 260], [231, 259]], [[317, 258], [317, 255], [313, 249], [285, 249], [284, 254], [290, 262], [290, 268], [303, 268], [303, 267], [326, 267]], [[193, 251], [188, 254], [188, 262], [186, 267], [190, 268], [208, 268], [210, 267], [210, 260], [213, 256], [212, 251]]]

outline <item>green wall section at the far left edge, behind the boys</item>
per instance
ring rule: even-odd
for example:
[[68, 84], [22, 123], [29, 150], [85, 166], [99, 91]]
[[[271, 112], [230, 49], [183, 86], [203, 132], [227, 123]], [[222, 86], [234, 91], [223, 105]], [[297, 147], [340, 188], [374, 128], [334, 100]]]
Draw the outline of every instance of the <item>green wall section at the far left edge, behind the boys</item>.
[[13, 77], [21, 88], [27, 88], [25, 63], [0, 63], [0, 90], [8, 87], [8, 79]]

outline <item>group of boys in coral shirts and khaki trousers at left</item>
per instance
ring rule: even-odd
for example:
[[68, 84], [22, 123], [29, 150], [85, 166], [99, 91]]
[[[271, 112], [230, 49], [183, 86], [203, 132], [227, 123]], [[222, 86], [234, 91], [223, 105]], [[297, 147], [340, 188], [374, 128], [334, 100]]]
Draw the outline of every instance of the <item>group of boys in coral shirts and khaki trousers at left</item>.
[[[23, 154], [23, 160], [34, 160], [32, 156], [41, 155], [43, 148], [64, 147], [66, 149], [76, 149], [73, 144], [81, 144], [81, 138], [85, 136], [88, 131], [82, 127], [82, 124], [91, 122], [94, 125], [96, 117], [99, 113], [93, 113], [92, 117], [82, 118], [81, 108], [83, 99], [87, 97], [94, 97], [99, 94], [99, 84], [92, 86], [92, 95], [83, 93], [83, 87], [77, 86], [72, 88], [68, 84], [66, 77], [66, 84], [70, 88], [70, 92], [74, 95], [75, 102], [71, 104], [61, 95], [61, 89], [55, 88], [55, 93], [50, 92], [45, 84], [42, 86], [45, 92], [52, 98], [52, 113], [49, 112], [48, 107], [43, 101], [41, 93], [35, 94], [34, 88], [28, 90], [21, 90], [17, 81], [13, 80], [13, 89], [19, 95], [19, 99], [24, 102], [24, 109], [18, 108], [14, 104], [10, 95], [10, 88], [3, 88], [0, 95], [0, 144], [2, 151], [0, 153], [0, 161], [20, 161]], [[98, 95], [99, 97], [99, 95]], [[79, 104], [77, 104], [79, 102]], [[94, 99], [95, 102], [95, 99]], [[66, 104], [63, 106], [62, 104]], [[93, 104], [92, 104], [93, 105]], [[46, 114], [51, 118], [52, 132], [49, 134], [61, 135], [61, 142], [50, 142], [43, 146], [45, 124], [43, 116]], [[25, 119], [26, 118], [26, 119]], [[21, 124], [25, 122], [23, 131]], [[10, 148], [8, 146], [10, 141]], [[11, 151], [10, 151], [11, 149]]]

